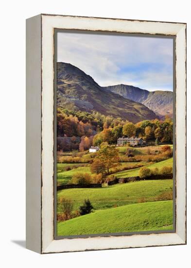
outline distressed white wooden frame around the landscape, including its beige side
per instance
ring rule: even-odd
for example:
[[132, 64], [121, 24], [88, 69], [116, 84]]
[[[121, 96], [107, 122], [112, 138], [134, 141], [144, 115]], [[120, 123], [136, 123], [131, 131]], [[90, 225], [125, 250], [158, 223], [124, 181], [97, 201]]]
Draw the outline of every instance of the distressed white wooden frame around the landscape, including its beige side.
[[[54, 29], [175, 36], [174, 233], [54, 240]], [[38, 15], [27, 19], [26, 247], [39, 253], [186, 244], [186, 24]]]

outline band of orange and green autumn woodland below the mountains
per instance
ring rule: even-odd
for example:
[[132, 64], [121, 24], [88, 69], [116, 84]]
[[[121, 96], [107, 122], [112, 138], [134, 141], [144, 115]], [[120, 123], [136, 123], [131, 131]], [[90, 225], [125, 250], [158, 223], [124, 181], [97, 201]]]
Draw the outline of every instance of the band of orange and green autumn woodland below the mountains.
[[[116, 144], [118, 138], [122, 136], [141, 137], [146, 142], [155, 141], [156, 144], [173, 143], [173, 121], [166, 117], [165, 120], [143, 120], [134, 124], [98, 112], [87, 113], [58, 108], [57, 136], [72, 137], [66, 141], [63, 139], [58, 150], [68, 148], [69, 150], [79, 149], [81, 152], [92, 145], [100, 146], [103, 142]], [[76, 141], [75, 137], [80, 137], [80, 141]]]

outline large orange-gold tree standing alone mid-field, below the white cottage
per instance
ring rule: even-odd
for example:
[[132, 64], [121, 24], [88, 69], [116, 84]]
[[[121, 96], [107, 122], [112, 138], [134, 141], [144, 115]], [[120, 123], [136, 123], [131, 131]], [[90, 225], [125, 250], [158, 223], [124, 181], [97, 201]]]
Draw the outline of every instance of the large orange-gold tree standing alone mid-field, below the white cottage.
[[103, 146], [98, 151], [96, 159], [100, 159], [104, 163], [107, 173], [109, 173], [110, 168], [117, 167], [120, 164], [120, 156], [114, 146]]

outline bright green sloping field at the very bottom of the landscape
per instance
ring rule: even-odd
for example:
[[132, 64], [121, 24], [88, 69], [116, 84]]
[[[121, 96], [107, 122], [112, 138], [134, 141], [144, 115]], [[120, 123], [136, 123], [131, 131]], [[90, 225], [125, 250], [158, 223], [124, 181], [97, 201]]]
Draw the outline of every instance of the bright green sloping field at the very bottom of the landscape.
[[173, 201], [126, 205], [96, 211], [57, 225], [58, 235], [173, 229]]

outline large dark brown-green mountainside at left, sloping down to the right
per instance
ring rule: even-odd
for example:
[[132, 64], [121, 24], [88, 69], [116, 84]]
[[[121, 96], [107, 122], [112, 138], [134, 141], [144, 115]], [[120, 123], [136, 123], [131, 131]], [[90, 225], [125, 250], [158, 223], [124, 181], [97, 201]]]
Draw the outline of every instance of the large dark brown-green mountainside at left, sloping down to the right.
[[57, 62], [57, 106], [76, 111], [94, 110], [133, 123], [157, 118], [145, 105], [106, 91], [82, 70], [64, 62]]

